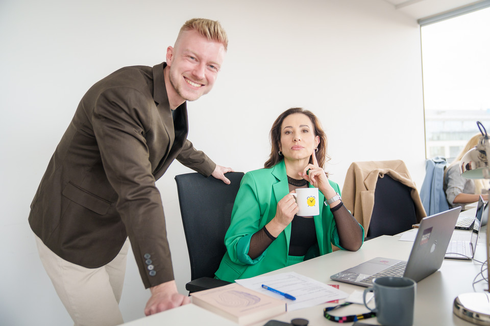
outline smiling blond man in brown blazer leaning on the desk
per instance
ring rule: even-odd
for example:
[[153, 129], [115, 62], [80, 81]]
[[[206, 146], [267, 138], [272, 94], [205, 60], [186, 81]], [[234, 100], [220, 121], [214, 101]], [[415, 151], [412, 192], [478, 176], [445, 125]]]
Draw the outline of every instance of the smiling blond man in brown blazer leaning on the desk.
[[188, 20], [166, 63], [119, 69], [80, 101], [29, 215], [41, 261], [76, 325], [124, 322], [118, 304], [129, 241], [152, 293], [145, 314], [189, 303], [174, 281], [155, 180], [177, 159], [230, 183], [224, 174], [232, 169], [187, 140], [186, 108], [212, 89], [227, 45], [219, 22]]

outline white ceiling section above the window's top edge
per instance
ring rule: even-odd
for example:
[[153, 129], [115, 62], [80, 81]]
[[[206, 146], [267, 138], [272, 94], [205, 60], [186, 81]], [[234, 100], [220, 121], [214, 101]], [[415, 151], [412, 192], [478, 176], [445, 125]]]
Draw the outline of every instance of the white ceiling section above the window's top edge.
[[384, 0], [395, 9], [416, 20], [482, 2], [476, 0]]

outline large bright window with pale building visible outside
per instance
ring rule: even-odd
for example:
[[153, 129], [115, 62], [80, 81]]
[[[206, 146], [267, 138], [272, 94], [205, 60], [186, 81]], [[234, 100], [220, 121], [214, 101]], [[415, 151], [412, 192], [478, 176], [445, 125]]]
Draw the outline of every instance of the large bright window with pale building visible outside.
[[419, 21], [427, 158], [452, 161], [479, 132], [476, 121], [490, 134], [489, 6], [438, 22]]

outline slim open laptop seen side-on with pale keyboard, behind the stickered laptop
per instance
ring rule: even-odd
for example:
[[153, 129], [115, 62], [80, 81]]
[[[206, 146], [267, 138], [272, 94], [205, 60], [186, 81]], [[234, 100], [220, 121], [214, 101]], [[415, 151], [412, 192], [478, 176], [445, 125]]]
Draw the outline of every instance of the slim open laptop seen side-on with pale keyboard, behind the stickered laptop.
[[449, 241], [445, 258], [473, 259], [473, 257], [475, 257], [476, 243], [478, 242], [478, 233], [480, 232], [483, 208], [484, 203], [480, 196], [476, 208], [473, 230], [471, 232], [462, 232], [462, 237], [459, 236], [460, 233], [453, 234], [451, 241]]

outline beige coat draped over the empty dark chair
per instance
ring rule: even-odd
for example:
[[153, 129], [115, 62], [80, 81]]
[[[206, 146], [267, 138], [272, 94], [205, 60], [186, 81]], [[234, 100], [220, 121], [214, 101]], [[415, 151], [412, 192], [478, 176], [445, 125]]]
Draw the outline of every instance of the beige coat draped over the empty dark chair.
[[342, 202], [362, 225], [366, 234], [374, 207], [374, 192], [378, 176], [387, 174], [394, 180], [411, 188], [411, 198], [415, 205], [417, 221], [427, 216], [419, 191], [410, 178], [408, 169], [402, 160], [353, 162], [347, 170], [342, 188]]

